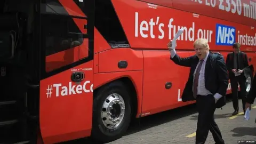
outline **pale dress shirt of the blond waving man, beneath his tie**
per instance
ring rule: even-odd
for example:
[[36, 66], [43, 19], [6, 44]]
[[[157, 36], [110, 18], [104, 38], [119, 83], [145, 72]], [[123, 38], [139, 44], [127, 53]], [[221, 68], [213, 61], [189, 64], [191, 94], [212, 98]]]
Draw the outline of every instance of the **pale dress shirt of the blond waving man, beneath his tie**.
[[[176, 51], [175, 50], [171, 50], [170, 52], [171, 52], [171, 57], [173, 58], [175, 56], [175, 54], [176, 54]], [[206, 88], [205, 88], [205, 81], [204, 81], [205, 64], [206, 64], [206, 60], [207, 60], [208, 55], [209, 55], [209, 52], [207, 52], [206, 57], [203, 59], [202, 67], [201, 67], [201, 70], [199, 72], [200, 74], [199, 74], [198, 86], [197, 86], [197, 94], [198, 95], [212, 94], [210, 91], [206, 90]], [[197, 63], [196, 69], [197, 69], [199, 63], [200, 63], [200, 61]], [[193, 74], [194, 77], [195, 77], [195, 74], [196, 74], [196, 69], [195, 69], [195, 72]], [[193, 80], [193, 82], [194, 82], [194, 80]], [[219, 93], [215, 93], [213, 95], [213, 97], [215, 99], [219, 100], [222, 97], [222, 95], [220, 95]]]

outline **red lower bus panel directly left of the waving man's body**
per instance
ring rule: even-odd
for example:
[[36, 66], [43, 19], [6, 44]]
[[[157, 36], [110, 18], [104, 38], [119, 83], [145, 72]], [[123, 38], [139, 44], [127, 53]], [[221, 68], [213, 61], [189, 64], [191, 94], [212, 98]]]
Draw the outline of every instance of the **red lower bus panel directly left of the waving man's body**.
[[[180, 57], [190, 56], [190, 53], [187, 51], [177, 51], [177, 54]], [[181, 94], [189, 75], [188, 67], [178, 66], [170, 60], [169, 51], [143, 50], [143, 55], [142, 116], [159, 113], [194, 102], [181, 101]], [[166, 88], [166, 83], [171, 83], [171, 87]]]

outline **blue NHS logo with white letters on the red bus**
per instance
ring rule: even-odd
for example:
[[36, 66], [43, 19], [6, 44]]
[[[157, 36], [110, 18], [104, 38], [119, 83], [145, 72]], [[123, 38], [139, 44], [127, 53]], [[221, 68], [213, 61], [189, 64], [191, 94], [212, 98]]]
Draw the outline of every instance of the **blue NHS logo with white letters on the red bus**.
[[216, 45], [232, 45], [236, 40], [236, 28], [216, 24]]

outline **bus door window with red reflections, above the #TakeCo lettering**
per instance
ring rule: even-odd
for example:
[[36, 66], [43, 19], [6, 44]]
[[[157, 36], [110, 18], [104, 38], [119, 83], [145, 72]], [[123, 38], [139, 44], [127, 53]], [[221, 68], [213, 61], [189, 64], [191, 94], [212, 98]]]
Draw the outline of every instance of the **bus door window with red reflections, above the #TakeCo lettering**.
[[82, 27], [87, 20], [77, 18], [82, 15], [79, 9], [73, 7], [73, 10], [59, 1], [45, 0], [42, 5], [41, 44], [46, 55], [46, 72], [49, 72], [79, 60], [79, 47], [84, 45], [83, 35], [87, 32]]

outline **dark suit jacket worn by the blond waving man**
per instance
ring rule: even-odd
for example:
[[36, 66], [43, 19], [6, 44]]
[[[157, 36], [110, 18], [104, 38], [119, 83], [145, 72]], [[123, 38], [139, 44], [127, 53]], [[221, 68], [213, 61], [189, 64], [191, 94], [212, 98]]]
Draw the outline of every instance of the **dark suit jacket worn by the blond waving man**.
[[[211, 55], [212, 53], [209, 52], [205, 65], [205, 88], [213, 94], [219, 93], [222, 96], [225, 96], [228, 87], [228, 70], [226, 67], [226, 63], [224, 59], [220, 55], [218, 55], [218, 57], [216, 58], [217, 62], [215, 64], [215, 67], [212, 68], [210, 62]], [[181, 99], [184, 102], [195, 100], [195, 98], [193, 97], [193, 74], [199, 58], [196, 55], [188, 58], [180, 58], [179, 55], [176, 53], [175, 56], [171, 58], [171, 60], [177, 65], [190, 67], [188, 81], [182, 93]]]

